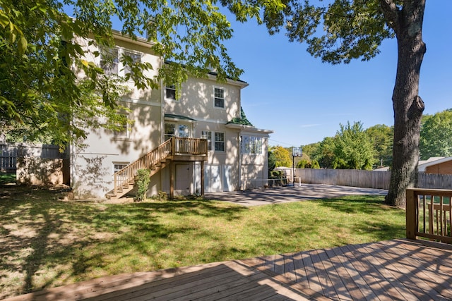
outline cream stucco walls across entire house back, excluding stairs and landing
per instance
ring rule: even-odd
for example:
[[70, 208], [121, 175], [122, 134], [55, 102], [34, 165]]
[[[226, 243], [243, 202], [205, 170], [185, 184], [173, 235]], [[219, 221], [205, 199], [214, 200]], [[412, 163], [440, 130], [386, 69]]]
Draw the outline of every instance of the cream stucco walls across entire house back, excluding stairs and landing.
[[[162, 61], [153, 55], [143, 42], [125, 41], [121, 37], [116, 42], [121, 51], [132, 51], [141, 55], [141, 61], [161, 66]], [[88, 45], [88, 44], [87, 44]], [[87, 46], [90, 51], [97, 49]], [[132, 50], [131, 50], [132, 49]], [[88, 58], [89, 60], [90, 58]], [[100, 57], [91, 59], [100, 66]], [[121, 66], [118, 68], [121, 69]], [[121, 71], [119, 71], [121, 73]], [[119, 74], [121, 75], [121, 74]], [[157, 68], [148, 76], [157, 75]], [[81, 75], [82, 76], [82, 75]], [[249, 178], [267, 178], [268, 133], [252, 126], [230, 126], [228, 123], [241, 116], [241, 90], [246, 82], [227, 80], [219, 83], [214, 75], [208, 78], [191, 78], [182, 83], [177, 100], [166, 96], [166, 87], [158, 90], [136, 90], [133, 82], [126, 82], [130, 92], [121, 99], [121, 104], [129, 111], [126, 114], [133, 124], [127, 135], [117, 135], [108, 130], [90, 130], [84, 144], [86, 147], [71, 149], [71, 186], [78, 198], [105, 197], [113, 188], [115, 167], [121, 168], [136, 161], [144, 154], [165, 142], [165, 123], [188, 125], [189, 137], [205, 138], [211, 135], [211, 148], [204, 162], [206, 192], [233, 191], [243, 188], [242, 181]], [[224, 108], [215, 107], [215, 88], [222, 90]], [[248, 132], [246, 132], [246, 130]], [[215, 133], [224, 137], [224, 150], [215, 150]], [[260, 154], [241, 153], [242, 135], [257, 135], [263, 140]], [[174, 135], [178, 136], [179, 133]], [[220, 142], [221, 144], [221, 142]], [[201, 163], [174, 161], [151, 177], [148, 197], [157, 192], [169, 193], [170, 176], [174, 175], [176, 195], [201, 193]]]

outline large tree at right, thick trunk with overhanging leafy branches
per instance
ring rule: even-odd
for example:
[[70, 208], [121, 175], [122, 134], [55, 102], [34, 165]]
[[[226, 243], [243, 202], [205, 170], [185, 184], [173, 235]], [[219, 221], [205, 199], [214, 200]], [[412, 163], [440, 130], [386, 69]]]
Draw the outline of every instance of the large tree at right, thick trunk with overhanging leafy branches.
[[[290, 41], [307, 42], [308, 51], [328, 63], [367, 61], [384, 39], [396, 38], [398, 63], [393, 90], [393, 168], [386, 202], [405, 207], [405, 189], [417, 181], [424, 102], [419, 94], [425, 0], [331, 0], [327, 4], [287, 0], [284, 11], [267, 11], [270, 33], [281, 27]], [[319, 26], [321, 25], [321, 26]], [[319, 28], [319, 30], [318, 30]]]

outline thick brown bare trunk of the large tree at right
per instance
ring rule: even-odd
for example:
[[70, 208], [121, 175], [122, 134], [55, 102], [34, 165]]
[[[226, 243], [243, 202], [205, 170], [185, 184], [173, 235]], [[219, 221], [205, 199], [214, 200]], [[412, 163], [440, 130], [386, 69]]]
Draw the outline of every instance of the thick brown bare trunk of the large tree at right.
[[420, 68], [426, 51], [422, 41], [424, 8], [425, 0], [405, 1], [403, 9], [396, 11], [398, 18], [393, 23], [389, 22], [396, 32], [398, 64], [393, 91], [393, 165], [386, 203], [402, 208], [406, 204], [406, 188], [417, 184], [420, 125], [424, 111], [424, 102], [418, 95]]

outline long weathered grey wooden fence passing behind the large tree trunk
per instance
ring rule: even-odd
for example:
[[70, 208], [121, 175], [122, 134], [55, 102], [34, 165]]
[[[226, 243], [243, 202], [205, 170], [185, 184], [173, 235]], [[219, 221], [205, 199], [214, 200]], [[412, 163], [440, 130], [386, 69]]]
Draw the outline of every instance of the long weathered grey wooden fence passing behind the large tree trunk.
[[[388, 189], [391, 171], [360, 171], [356, 169], [297, 168], [295, 176], [302, 183], [343, 185], [363, 188]], [[417, 188], [452, 189], [452, 175], [419, 173]]]

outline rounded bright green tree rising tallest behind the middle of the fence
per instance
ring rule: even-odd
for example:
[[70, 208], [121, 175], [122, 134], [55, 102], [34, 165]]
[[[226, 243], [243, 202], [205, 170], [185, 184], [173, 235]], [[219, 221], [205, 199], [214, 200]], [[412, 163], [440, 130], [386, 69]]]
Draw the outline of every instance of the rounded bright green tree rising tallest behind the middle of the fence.
[[374, 162], [374, 146], [362, 128], [362, 123], [340, 124], [334, 137], [335, 161], [333, 168], [371, 169]]

